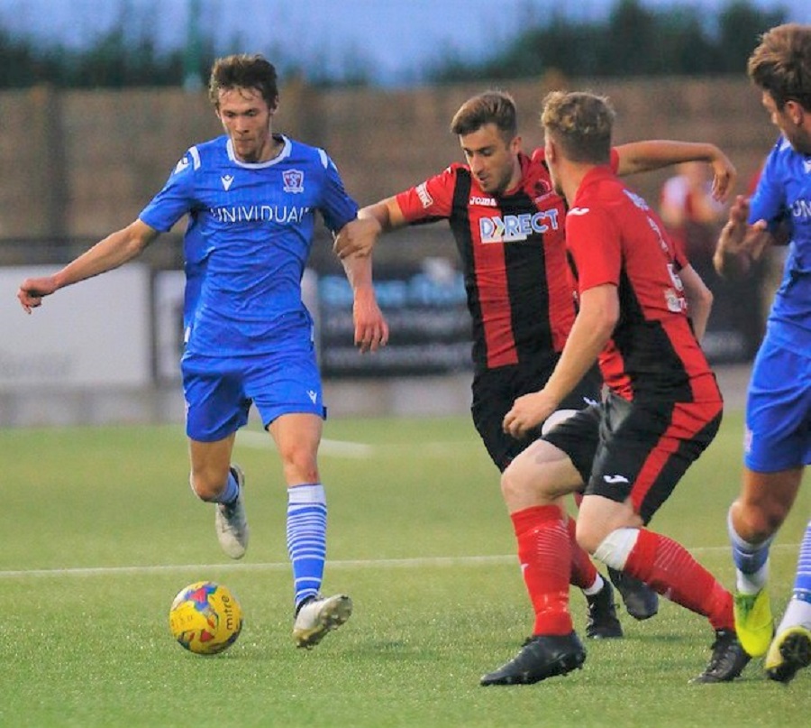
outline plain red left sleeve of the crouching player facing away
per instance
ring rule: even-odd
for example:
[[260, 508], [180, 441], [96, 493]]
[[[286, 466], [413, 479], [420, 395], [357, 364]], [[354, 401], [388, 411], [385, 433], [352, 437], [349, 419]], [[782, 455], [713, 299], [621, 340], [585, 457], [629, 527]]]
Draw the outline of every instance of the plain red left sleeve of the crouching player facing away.
[[578, 290], [619, 285], [622, 246], [614, 220], [603, 210], [572, 207], [566, 217], [566, 244], [578, 272]]

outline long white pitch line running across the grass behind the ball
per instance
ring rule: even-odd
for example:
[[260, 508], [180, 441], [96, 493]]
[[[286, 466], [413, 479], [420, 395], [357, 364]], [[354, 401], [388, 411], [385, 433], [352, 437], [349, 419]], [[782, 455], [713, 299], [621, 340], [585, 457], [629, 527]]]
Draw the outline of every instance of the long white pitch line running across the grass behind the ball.
[[[778, 544], [772, 550], [796, 551], [799, 544]], [[711, 554], [728, 551], [728, 546], [706, 546], [688, 548], [691, 554]], [[351, 568], [424, 568], [424, 567], [468, 567], [488, 566], [490, 564], [517, 564], [515, 554], [497, 556], [459, 556], [459, 557], [421, 557], [421, 558], [361, 558], [327, 561], [331, 569]], [[25, 578], [29, 576], [111, 576], [117, 574], [159, 574], [178, 571], [287, 571], [289, 562], [268, 562], [262, 564], [165, 564], [162, 566], [141, 567], [77, 567], [77, 568], [40, 568], [0, 571], [0, 579]]]

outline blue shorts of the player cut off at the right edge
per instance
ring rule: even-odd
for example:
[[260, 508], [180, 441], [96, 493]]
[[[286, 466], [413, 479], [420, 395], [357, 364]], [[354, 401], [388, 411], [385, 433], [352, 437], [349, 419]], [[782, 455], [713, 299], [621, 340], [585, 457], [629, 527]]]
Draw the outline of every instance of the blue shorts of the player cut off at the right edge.
[[758, 473], [811, 465], [811, 357], [768, 332], [752, 367], [743, 462]]

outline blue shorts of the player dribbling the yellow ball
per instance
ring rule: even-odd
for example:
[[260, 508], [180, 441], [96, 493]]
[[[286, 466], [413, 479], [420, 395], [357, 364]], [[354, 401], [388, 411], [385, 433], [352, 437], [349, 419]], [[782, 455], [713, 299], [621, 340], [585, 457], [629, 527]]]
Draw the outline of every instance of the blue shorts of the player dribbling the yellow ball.
[[326, 417], [315, 348], [264, 355], [184, 355], [180, 364], [186, 396], [186, 433], [198, 442], [228, 437], [248, 422], [251, 403], [266, 429], [279, 415]]

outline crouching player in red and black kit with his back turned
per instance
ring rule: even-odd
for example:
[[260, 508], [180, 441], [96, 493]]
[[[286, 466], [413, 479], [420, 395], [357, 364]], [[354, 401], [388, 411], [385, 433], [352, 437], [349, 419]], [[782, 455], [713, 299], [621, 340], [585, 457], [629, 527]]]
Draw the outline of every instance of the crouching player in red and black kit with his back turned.
[[706, 616], [715, 630], [712, 658], [694, 681], [728, 682], [749, 661], [734, 631], [732, 594], [687, 549], [646, 528], [715, 437], [723, 401], [698, 343], [711, 298], [661, 219], [612, 170], [613, 120], [606, 99], [583, 93], [552, 93], [542, 114], [551, 178], [570, 204], [566, 243], [579, 310], [549, 380], [515, 401], [504, 429], [520, 436], [549, 417], [596, 361], [607, 393], [502, 475], [535, 624], [515, 659], [482, 685], [535, 683], [586, 659], [568, 608], [563, 503], [584, 485], [580, 546]]

